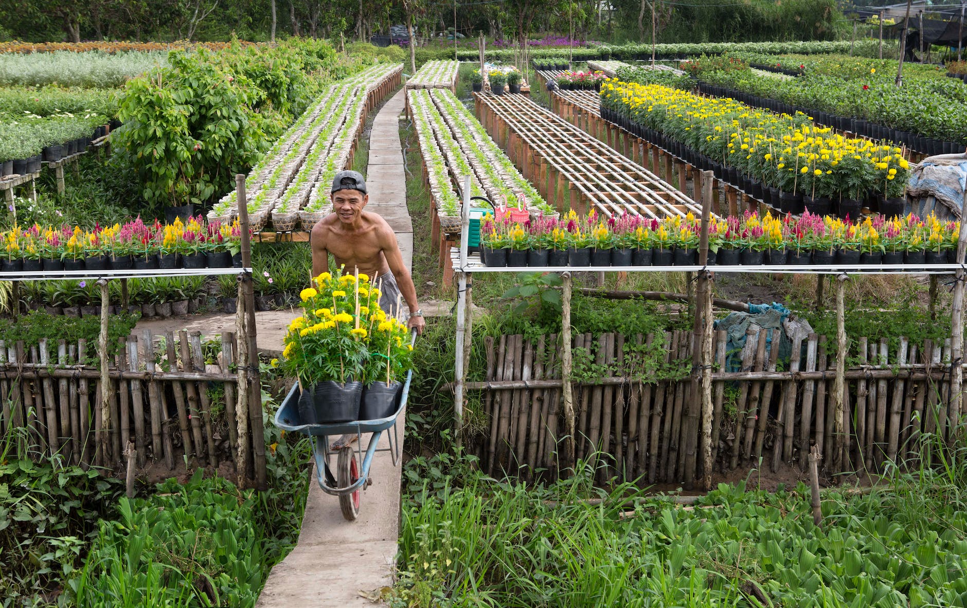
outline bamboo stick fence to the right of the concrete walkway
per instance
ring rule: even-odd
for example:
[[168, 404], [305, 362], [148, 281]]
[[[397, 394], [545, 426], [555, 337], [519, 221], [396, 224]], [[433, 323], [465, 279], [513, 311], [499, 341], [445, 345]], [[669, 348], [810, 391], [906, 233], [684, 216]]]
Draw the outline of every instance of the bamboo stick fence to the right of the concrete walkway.
[[[950, 439], [965, 409], [951, 391], [951, 340], [922, 344], [904, 337], [857, 337], [845, 370], [843, 437], [835, 441], [836, 340], [810, 333], [793, 341], [788, 362], [777, 361], [773, 330], [750, 328], [741, 370], [726, 367], [726, 335], [715, 333], [711, 432], [713, 473], [784, 463], [805, 469], [815, 446], [829, 475], [875, 473], [888, 461], [920, 454], [924, 434]], [[661, 376], [642, 371], [634, 353], [660, 346]], [[563, 466], [563, 382], [557, 335], [537, 342], [523, 335], [485, 340], [485, 380], [468, 382], [480, 399], [487, 432], [472, 443], [486, 471], [533, 478]], [[576, 334], [572, 349], [605, 377], [572, 385], [576, 457], [595, 459], [598, 476], [640, 483], [690, 483], [702, 478], [705, 449], [700, 420], [689, 407], [698, 395], [689, 377], [692, 334]], [[679, 373], [667, 373], [682, 362]], [[655, 366], [655, 362], [651, 363]], [[784, 371], [777, 371], [779, 366]], [[580, 378], [580, 375], [578, 375]], [[840, 448], [838, 449], [837, 448]], [[837, 453], [838, 451], [838, 453]], [[761, 461], [760, 461], [761, 458]], [[692, 474], [688, 472], [694, 472]]]

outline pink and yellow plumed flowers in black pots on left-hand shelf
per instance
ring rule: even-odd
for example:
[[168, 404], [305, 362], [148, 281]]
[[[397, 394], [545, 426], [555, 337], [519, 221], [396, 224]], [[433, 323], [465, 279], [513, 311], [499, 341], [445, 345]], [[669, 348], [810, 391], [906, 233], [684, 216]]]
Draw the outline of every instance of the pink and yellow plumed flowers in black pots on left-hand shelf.
[[124, 224], [90, 230], [79, 226], [15, 225], [0, 233], [5, 273], [230, 268], [239, 265], [238, 221], [162, 224], [140, 217]]

